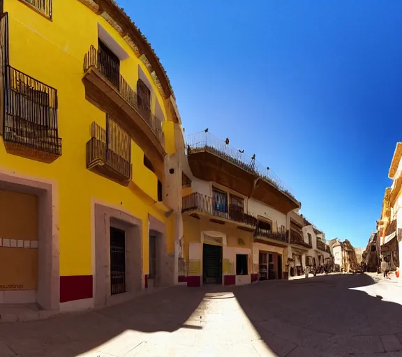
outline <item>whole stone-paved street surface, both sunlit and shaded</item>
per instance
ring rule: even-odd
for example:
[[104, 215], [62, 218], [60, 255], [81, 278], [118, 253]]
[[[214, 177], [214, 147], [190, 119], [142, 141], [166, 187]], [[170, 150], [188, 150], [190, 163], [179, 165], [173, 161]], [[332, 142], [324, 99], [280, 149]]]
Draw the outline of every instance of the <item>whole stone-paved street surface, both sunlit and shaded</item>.
[[0, 324], [0, 357], [402, 356], [402, 305], [393, 302], [402, 285], [373, 278], [172, 287], [94, 312]]

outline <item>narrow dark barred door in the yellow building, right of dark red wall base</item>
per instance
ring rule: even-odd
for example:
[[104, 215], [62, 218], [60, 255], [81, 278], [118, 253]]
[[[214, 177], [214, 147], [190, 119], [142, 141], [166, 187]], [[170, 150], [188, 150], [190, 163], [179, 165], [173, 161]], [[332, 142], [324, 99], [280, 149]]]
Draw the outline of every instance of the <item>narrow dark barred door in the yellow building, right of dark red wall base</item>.
[[110, 294], [126, 292], [126, 232], [110, 227]]

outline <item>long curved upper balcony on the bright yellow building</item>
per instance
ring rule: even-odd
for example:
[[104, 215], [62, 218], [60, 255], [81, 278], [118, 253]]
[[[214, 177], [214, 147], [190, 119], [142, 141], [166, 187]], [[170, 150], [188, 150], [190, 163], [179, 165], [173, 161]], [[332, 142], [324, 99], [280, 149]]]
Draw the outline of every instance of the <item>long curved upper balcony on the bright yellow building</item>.
[[128, 130], [154, 164], [156, 173], [161, 174], [165, 137], [162, 121], [151, 113], [149, 98], [145, 100], [134, 91], [119, 73], [115, 61], [107, 52], [98, 51], [94, 46], [84, 56], [82, 82], [87, 99], [112, 114]]

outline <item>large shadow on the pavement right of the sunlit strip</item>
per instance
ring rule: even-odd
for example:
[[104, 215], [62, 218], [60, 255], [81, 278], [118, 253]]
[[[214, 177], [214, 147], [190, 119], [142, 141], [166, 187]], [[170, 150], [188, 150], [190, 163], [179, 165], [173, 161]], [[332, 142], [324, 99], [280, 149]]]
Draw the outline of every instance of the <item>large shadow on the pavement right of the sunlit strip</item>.
[[235, 296], [277, 356], [378, 356], [385, 351], [402, 356], [402, 306], [356, 289], [375, 294], [370, 276], [319, 276], [280, 289], [268, 285], [239, 288]]

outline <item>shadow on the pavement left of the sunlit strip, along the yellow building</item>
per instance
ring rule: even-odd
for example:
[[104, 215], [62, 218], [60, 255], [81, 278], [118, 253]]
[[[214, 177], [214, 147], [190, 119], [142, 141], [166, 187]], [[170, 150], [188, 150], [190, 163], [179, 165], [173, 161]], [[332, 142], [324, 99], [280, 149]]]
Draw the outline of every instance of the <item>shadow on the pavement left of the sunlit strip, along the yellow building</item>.
[[179, 328], [199, 330], [200, 326], [186, 321], [197, 312], [206, 292], [218, 291], [222, 291], [221, 286], [172, 287], [102, 310], [62, 314], [41, 321], [1, 323], [0, 357], [71, 357], [95, 349], [125, 331], [141, 332], [133, 335], [140, 343], [146, 333], [173, 332]]

